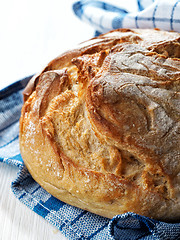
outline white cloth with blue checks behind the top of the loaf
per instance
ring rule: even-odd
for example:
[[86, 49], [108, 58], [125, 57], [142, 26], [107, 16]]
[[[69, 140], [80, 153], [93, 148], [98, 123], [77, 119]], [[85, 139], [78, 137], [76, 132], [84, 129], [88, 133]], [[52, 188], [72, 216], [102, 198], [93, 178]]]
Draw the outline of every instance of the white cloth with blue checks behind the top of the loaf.
[[137, 0], [136, 12], [122, 8], [123, 1], [117, 0], [117, 4], [112, 5], [106, 0], [82, 0], [74, 3], [73, 10], [82, 21], [94, 27], [97, 35], [117, 28], [160, 28], [180, 32], [180, 0]]

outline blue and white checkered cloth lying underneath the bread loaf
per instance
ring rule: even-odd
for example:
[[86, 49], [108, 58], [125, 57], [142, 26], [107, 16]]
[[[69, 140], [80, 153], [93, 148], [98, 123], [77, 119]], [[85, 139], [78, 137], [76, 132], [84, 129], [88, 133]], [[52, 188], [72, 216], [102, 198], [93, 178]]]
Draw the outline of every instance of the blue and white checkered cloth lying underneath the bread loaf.
[[22, 89], [29, 79], [0, 91], [0, 162], [19, 168], [12, 182], [15, 196], [68, 239], [180, 239], [180, 223], [159, 222], [135, 213], [118, 215], [110, 220], [59, 201], [32, 179], [19, 151]]

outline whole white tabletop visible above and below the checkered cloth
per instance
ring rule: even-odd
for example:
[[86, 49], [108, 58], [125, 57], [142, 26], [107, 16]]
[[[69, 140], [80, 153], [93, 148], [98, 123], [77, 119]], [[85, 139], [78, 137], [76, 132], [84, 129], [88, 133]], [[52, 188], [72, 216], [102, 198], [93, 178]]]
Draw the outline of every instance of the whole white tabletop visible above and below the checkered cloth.
[[[39, 72], [60, 53], [93, 37], [94, 29], [74, 15], [73, 2], [3, 1], [0, 8], [0, 89]], [[15, 198], [10, 185], [17, 171], [16, 167], [0, 163], [0, 240], [66, 239]]]

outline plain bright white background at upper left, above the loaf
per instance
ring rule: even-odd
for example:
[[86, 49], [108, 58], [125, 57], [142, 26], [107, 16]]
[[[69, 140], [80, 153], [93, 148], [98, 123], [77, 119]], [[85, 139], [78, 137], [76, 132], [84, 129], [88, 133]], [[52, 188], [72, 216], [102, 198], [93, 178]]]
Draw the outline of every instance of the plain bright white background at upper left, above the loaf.
[[1, 88], [39, 72], [51, 59], [91, 38], [72, 0], [6, 0], [0, 6]]

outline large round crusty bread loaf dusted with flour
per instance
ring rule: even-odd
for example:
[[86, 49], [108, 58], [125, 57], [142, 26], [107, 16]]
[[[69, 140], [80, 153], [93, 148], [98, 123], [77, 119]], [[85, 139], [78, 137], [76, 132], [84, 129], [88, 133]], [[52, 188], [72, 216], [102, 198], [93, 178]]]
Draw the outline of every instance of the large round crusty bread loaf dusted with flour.
[[56, 198], [112, 218], [180, 220], [180, 34], [118, 29], [29, 82], [20, 150]]

